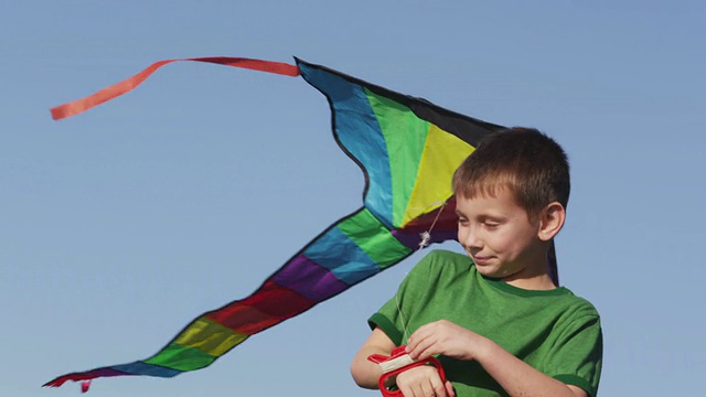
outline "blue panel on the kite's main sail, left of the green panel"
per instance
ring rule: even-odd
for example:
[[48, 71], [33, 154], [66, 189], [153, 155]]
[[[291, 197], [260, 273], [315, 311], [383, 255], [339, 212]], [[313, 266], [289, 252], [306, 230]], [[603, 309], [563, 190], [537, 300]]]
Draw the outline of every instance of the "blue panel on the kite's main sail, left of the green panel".
[[329, 99], [336, 141], [366, 173], [365, 207], [393, 228], [387, 143], [364, 88], [304, 63], [300, 63], [299, 68], [302, 77]]

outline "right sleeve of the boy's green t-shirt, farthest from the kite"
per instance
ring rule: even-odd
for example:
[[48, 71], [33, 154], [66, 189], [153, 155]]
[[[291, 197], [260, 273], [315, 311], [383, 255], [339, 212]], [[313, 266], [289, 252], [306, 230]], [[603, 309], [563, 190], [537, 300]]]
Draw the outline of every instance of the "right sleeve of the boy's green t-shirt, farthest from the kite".
[[603, 337], [598, 313], [573, 320], [563, 330], [547, 357], [547, 375], [567, 385], [582, 388], [589, 396], [598, 393], [603, 361]]

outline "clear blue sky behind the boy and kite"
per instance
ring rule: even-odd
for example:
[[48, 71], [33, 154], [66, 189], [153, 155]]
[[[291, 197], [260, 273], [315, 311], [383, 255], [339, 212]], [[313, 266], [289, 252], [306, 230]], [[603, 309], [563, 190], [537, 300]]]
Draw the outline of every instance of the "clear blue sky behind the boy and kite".
[[[573, 165], [561, 281], [602, 314], [602, 396], [706, 383], [703, 1], [3, 1], [0, 396], [156, 353], [360, 207], [301, 78], [172, 64], [55, 122], [50, 107], [163, 58], [323, 64], [556, 138]], [[459, 249], [456, 244], [442, 248]], [[93, 396], [375, 396], [349, 363], [416, 254], [211, 367]]]

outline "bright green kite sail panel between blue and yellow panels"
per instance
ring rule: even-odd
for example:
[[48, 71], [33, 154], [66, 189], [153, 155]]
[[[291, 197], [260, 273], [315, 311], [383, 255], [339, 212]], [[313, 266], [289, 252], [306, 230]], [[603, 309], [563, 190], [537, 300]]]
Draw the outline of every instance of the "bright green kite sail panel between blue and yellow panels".
[[429, 122], [418, 118], [405, 105], [367, 89], [366, 94], [387, 144], [393, 192], [392, 219], [394, 227], [400, 227], [416, 186], [414, 182], [419, 173]]

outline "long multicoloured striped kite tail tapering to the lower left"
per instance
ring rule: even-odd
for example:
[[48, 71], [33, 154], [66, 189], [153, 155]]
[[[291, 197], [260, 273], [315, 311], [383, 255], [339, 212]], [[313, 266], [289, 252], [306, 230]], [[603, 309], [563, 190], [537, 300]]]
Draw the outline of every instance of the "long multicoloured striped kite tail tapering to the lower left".
[[66, 374], [44, 386], [126, 375], [173, 377], [204, 368], [250, 335], [301, 314], [413, 254], [418, 234], [416, 239], [400, 240], [397, 232], [361, 208], [325, 229], [253, 294], [201, 314], [152, 357]]

